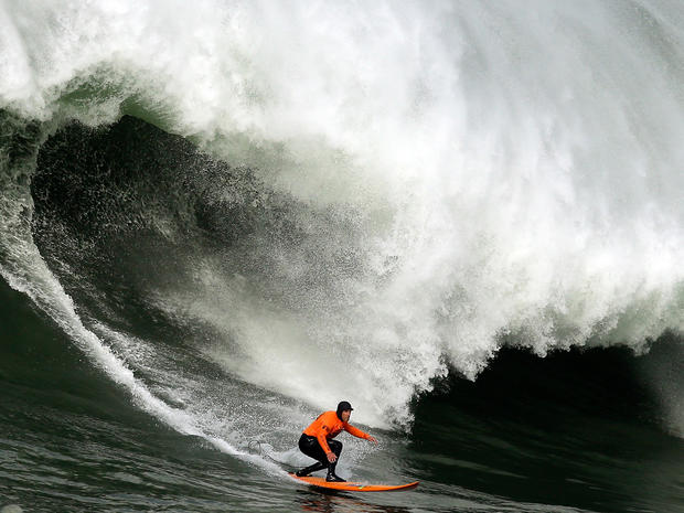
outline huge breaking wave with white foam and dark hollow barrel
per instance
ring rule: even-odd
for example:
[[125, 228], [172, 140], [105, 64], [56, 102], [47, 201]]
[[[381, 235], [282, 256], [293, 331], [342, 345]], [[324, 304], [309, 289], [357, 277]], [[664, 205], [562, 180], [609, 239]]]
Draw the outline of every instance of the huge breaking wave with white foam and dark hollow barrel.
[[3, 2], [0, 272], [190, 434], [133, 310], [385, 427], [503, 345], [645, 351], [684, 329], [683, 9]]

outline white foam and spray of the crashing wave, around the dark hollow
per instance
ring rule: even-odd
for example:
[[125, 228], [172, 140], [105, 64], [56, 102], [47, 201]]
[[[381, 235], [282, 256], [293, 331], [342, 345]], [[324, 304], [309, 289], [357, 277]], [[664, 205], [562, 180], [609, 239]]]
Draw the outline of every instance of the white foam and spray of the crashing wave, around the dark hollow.
[[[314, 217], [355, 212], [349, 241], [308, 234], [363, 269], [330, 269], [330, 303], [272, 304], [214, 257], [192, 263], [195, 288], [157, 292], [222, 331], [207, 354], [252, 383], [343, 394], [384, 425], [502, 338], [641, 351], [684, 329], [677, 2], [0, 6], [0, 106], [133, 113]], [[297, 287], [311, 253], [269, 252]]]

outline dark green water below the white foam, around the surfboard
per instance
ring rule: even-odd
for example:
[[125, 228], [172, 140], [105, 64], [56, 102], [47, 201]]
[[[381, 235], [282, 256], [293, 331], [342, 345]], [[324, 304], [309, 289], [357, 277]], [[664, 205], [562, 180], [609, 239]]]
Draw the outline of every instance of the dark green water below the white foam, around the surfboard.
[[[325, 494], [141, 413], [26, 298], [0, 290], [0, 498], [24, 511], [682, 511], [684, 443], [659, 429], [638, 381], [658, 355], [506, 352], [477, 383], [419, 399], [412, 432], [383, 431], [383, 450], [354, 469], [418, 479], [416, 491]], [[681, 355], [681, 341], [660, 345]]]

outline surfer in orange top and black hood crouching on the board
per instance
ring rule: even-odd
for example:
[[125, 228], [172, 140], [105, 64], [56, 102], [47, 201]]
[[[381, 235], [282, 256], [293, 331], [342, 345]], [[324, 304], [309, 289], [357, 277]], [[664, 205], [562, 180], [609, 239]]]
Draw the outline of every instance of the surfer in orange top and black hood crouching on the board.
[[371, 435], [349, 424], [349, 418], [353, 409], [351, 404], [343, 400], [338, 405], [336, 412], [322, 413], [311, 423], [311, 426], [304, 429], [299, 438], [299, 450], [317, 460], [317, 462], [306, 469], [298, 470], [298, 477], [303, 478], [311, 472], [328, 468], [325, 481], [345, 481], [335, 474], [335, 467], [338, 466], [338, 460], [342, 452], [342, 442], [333, 440], [333, 438], [342, 430], [357, 438], [365, 438], [366, 440], [377, 443], [377, 440]]

